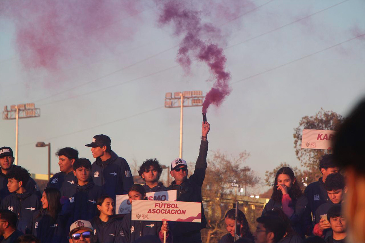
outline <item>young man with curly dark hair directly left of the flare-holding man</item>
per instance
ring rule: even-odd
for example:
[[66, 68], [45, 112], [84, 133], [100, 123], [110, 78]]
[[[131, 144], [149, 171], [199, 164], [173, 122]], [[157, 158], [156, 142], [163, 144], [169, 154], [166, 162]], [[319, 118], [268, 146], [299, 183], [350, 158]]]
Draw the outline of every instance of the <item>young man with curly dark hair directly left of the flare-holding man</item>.
[[138, 174], [146, 183], [143, 185], [146, 192], [162, 192], [166, 191], [166, 187], [161, 182], [158, 182], [162, 173], [162, 166], [158, 160], [148, 159], [143, 161], [139, 167]]

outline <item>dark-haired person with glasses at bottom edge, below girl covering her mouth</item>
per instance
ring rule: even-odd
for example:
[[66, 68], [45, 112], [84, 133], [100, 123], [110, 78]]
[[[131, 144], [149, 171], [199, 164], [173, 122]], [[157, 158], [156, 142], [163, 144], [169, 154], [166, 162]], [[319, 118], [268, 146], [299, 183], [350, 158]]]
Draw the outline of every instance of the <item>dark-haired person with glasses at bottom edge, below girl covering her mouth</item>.
[[255, 243], [277, 243], [285, 235], [285, 223], [275, 216], [261, 216], [256, 219]]

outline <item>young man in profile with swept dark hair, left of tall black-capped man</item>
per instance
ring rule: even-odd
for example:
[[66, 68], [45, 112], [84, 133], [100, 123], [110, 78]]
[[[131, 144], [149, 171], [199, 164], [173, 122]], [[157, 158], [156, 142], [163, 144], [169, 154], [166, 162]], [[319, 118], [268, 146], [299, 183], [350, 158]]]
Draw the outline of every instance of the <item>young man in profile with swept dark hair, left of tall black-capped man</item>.
[[58, 149], [55, 155], [58, 156], [58, 165], [61, 172], [55, 173], [51, 177], [47, 183], [47, 188], [54, 187], [61, 191], [61, 188], [77, 183], [76, 176], [73, 174], [72, 165], [78, 158], [78, 151], [66, 147]]

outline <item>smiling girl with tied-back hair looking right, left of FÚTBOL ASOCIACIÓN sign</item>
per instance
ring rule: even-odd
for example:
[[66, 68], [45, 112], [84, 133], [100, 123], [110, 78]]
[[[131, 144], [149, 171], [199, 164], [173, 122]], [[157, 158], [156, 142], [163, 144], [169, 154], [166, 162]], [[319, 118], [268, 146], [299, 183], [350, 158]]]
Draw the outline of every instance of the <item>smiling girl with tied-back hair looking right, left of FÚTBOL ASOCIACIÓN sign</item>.
[[119, 243], [124, 240], [122, 220], [114, 219], [114, 200], [109, 196], [97, 199], [97, 216], [89, 220], [99, 243]]

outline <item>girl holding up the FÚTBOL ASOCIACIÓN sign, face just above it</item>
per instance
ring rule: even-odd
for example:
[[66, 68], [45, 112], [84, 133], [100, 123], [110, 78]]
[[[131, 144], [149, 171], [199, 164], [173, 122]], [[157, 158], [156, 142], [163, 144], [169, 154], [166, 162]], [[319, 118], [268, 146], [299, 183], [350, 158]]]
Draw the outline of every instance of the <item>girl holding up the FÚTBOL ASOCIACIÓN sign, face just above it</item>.
[[[142, 185], [134, 184], [128, 190], [129, 201], [146, 200], [146, 191]], [[169, 232], [168, 223], [162, 225], [161, 221], [141, 221], [132, 220], [132, 212], [124, 216], [122, 220], [124, 231], [124, 241], [126, 243], [135, 242], [137, 239], [160, 238], [164, 242], [164, 231], [166, 231], [166, 242], [172, 242], [172, 234]]]

